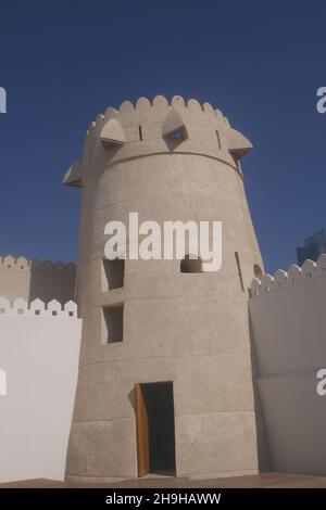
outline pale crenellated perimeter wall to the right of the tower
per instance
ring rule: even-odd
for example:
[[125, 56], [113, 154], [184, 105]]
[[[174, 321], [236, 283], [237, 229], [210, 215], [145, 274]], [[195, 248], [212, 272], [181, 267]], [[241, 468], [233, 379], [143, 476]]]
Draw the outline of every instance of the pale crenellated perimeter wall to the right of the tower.
[[326, 256], [255, 280], [250, 316], [274, 469], [326, 475]]

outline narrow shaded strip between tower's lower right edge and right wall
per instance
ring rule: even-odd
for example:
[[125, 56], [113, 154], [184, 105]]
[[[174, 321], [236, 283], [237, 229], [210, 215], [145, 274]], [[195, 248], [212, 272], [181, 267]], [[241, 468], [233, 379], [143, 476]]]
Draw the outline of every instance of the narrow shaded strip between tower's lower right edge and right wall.
[[[249, 310], [248, 310], [249, 314]], [[258, 464], [259, 471], [271, 471], [273, 469], [272, 456], [269, 442], [267, 436], [267, 429], [263, 415], [263, 409], [259, 396], [258, 390], [258, 362], [255, 355], [255, 347], [253, 342], [253, 332], [251, 317], [249, 314], [249, 330], [250, 330], [250, 350], [251, 350], [251, 373], [252, 373], [252, 386], [253, 386], [253, 399], [254, 399], [254, 416], [255, 416], [255, 428], [256, 428], [256, 450], [258, 450]]]

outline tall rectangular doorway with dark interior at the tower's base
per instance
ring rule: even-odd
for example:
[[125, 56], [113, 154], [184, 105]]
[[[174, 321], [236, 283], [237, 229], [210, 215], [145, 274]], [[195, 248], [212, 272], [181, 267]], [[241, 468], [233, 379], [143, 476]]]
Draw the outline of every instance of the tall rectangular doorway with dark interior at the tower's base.
[[136, 384], [138, 475], [175, 474], [173, 383]]

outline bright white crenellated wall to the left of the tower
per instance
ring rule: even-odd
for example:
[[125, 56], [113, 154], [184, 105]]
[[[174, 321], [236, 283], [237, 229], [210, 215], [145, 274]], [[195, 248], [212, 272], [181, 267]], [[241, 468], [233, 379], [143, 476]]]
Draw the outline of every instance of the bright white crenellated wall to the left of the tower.
[[73, 317], [60, 310], [54, 317], [46, 310], [40, 316], [7, 311], [0, 306], [0, 370], [7, 374], [7, 396], [0, 395], [0, 481], [63, 480], [82, 320], [75, 311]]

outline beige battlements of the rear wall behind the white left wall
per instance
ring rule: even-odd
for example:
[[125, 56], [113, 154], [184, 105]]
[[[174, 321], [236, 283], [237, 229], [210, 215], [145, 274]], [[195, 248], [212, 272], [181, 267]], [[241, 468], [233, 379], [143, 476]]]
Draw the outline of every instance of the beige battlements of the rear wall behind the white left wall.
[[54, 275], [75, 275], [76, 265], [74, 263], [63, 264], [51, 260], [28, 260], [25, 257], [14, 258], [12, 255], [0, 257], [0, 270], [39, 271]]

